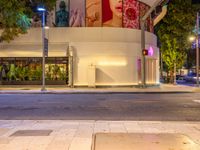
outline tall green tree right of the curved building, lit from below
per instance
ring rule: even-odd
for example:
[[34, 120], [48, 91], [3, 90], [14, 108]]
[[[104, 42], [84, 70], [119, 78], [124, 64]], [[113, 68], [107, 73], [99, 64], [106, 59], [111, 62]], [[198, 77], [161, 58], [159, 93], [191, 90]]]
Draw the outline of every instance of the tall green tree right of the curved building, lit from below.
[[199, 8], [199, 5], [192, 5], [191, 0], [171, 0], [167, 15], [156, 26], [162, 59], [167, 65], [171, 82], [176, 73], [174, 67], [181, 68], [186, 60], [187, 50], [191, 46], [188, 37], [193, 34]]

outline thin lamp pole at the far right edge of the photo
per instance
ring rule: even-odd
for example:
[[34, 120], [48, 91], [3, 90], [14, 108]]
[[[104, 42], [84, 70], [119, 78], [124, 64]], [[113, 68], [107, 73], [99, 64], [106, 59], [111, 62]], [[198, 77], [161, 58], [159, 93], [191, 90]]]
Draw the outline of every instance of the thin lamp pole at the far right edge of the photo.
[[196, 55], [197, 87], [199, 87], [199, 12], [197, 12]]

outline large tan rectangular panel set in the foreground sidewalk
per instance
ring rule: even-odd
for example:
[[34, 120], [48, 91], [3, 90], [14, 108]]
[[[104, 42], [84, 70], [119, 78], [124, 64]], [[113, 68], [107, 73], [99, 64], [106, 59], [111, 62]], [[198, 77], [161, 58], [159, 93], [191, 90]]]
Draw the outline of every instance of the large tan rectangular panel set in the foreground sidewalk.
[[97, 133], [92, 150], [200, 150], [182, 134]]

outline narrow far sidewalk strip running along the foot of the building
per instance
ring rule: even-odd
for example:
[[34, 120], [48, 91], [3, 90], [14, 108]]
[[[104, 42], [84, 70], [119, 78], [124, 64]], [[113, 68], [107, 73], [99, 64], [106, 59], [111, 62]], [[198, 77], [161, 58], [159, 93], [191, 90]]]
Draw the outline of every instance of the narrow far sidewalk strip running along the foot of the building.
[[47, 86], [47, 91], [41, 92], [41, 86], [0, 86], [0, 94], [41, 94], [41, 93], [191, 93], [200, 92], [200, 88], [185, 86], [161, 84], [147, 88], [137, 87], [111, 87], [111, 88], [69, 88], [66, 86]]

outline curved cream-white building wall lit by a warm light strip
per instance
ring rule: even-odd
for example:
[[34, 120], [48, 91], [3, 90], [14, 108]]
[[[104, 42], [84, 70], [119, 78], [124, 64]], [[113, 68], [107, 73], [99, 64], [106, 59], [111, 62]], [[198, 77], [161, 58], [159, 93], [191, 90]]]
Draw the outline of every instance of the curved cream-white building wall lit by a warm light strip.
[[[125, 28], [51, 28], [49, 56], [66, 56], [68, 46], [74, 52], [74, 84], [88, 85], [88, 67], [96, 66], [96, 85], [137, 85], [141, 58], [141, 31]], [[31, 29], [10, 44], [1, 45], [1, 57], [32, 57], [41, 54], [41, 29]], [[151, 59], [157, 61], [156, 82], [159, 82], [157, 39], [146, 32], [146, 48], [154, 49]]]

